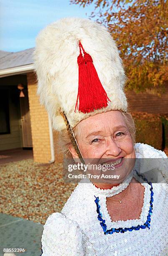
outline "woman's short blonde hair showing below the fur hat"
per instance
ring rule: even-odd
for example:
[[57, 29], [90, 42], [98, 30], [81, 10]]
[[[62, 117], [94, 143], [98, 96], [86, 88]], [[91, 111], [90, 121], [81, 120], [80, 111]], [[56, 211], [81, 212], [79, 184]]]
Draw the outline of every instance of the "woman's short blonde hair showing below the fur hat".
[[[119, 110], [120, 111], [120, 110]], [[130, 133], [130, 136], [132, 138], [132, 142], [135, 143], [135, 123], [134, 120], [132, 118], [132, 115], [130, 113], [124, 113], [122, 111], [120, 111], [122, 113], [122, 116], [125, 120], [125, 123], [127, 125], [128, 131]], [[74, 131], [74, 136], [76, 138], [78, 131], [78, 125], [76, 125], [73, 128]], [[69, 151], [69, 146], [72, 145], [71, 140], [69, 138], [69, 134], [67, 129], [64, 129], [61, 131], [61, 133], [59, 133], [59, 148], [61, 148], [61, 152], [64, 152], [67, 158], [71, 158], [72, 155]]]

